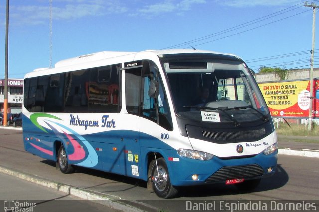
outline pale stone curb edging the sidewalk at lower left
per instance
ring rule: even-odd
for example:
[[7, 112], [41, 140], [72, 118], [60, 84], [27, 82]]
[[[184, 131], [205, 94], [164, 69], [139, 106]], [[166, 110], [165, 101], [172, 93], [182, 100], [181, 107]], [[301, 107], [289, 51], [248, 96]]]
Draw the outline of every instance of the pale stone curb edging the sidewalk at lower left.
[[57, 183], [45, 179], [41, 179], [39, 177], [31, 176], [28, 174], [24, 174], [21, 172], [13, 171], [11, 169], [0, 166], [0, 172], [11, 175], [22, 180], [35, 183], [37, 185], [41, 185], [47, 188], [55, 189], [57, 191], [64, 192], [68, 195], [73, 195], [75, 197], [79, 197], [83, 200], [91, 200], [97, 201], [98, 203], [107, 206], [109, 208], [125, 211], [125, 212], [144, 212], [145, 210], [136, 208], [132, 205], [120, 202], [121, 198], [111, 195], [106, 195], [103, 193], [93, 192], [90, 190], [81, 189], [78, 187], [69, 186], [63, 183]]

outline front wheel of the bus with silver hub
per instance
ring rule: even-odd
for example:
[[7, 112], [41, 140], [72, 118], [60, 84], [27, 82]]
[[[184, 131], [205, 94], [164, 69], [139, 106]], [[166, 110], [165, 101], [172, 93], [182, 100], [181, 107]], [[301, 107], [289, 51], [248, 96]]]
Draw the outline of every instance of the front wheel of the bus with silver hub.
[[[177, 195], [178, 190], [171, 185], [168, 168], [163, 158], [157, 159], [158, 168], [156, 162], [150, 163], [151, 168], [151, 182], [152, 188], [155, 194], [161, 198], [172, 198]], [[159, 169], [159, 175], [158, 170]], [[160, 178], [159, 178], [160, 176]]]

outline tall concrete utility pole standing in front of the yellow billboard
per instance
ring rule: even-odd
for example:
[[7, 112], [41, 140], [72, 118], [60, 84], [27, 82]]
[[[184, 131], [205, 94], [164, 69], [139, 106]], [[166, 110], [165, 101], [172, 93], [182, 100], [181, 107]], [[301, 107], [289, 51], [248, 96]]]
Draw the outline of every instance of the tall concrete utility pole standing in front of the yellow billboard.
[[309, 99], [309, 119], [308, 119], [308, 130], [310, 131], [312, 129], [312, 111], [313, 111], [313, 93], [314, 93], [314, 76], [313, 76], [313, 69], [314, 69], [314, 50], [315, 50], [315, 20], [316, 20], [316, 8], [319, 8], [319, 6], [316, 6], [316, 4], [307, 4], [305, 2], [306, 7], [313, 8], [313, 40], [312, 40], [312, 46], [311, 46], [311, 59], [310, 59], [310, 71], [309, 71], [309, 81], [310, 81], [310, 99]]

